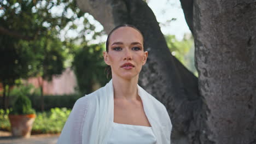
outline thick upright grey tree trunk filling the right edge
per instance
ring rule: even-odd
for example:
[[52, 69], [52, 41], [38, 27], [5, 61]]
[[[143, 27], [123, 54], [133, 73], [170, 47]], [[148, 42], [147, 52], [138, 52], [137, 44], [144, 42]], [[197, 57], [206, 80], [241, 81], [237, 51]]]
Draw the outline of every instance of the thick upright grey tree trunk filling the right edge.
[[256, 143], [256, 1], [181, 3], [205, 99], [199, 141]]

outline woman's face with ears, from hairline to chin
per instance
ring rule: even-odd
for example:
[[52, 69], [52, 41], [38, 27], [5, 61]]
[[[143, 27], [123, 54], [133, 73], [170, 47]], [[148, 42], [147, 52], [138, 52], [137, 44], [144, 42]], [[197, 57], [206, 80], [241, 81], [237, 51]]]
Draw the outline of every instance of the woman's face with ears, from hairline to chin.
[[108, 52], [104, 61], [112, 69], [112, 77], [131, 79], [138, 76], [147, 61], [141, 33], [132, 27], [120, 27], [109, 38]]

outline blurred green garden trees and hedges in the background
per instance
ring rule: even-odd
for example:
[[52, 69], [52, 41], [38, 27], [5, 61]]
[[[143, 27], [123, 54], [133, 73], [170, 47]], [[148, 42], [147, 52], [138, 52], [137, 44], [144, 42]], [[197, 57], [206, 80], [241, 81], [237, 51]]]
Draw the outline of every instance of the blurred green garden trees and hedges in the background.
[[[19, 93], [25, 92], [37, 111], [32, 133], [60, 133], [75, 103], [109, 80], [102, 52], [106, 33], [75, 1], [0, 1], [0, 130], [10, 130], [8, 114]], [[165, 35], [179, 61], [197, 76], [194, 40]], [[52, 81], [65, 69], [74, 71], [74, 93], [46, 94], [43, 81]], [[39, 86], [28, 85], [41, 77]]]

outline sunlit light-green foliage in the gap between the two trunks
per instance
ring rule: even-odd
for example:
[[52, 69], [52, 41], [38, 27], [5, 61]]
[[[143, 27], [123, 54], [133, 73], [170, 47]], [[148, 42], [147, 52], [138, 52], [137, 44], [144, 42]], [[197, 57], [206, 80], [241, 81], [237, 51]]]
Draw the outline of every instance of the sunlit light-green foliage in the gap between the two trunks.
[[165, 39], [172, 55], [197, 76], [198, 74], [194, 60], [195, 49], [193, 37], [191, 35], [184, 35], [184, 38], [179, 41], [175, 38], [175, 35], [165, 35]]

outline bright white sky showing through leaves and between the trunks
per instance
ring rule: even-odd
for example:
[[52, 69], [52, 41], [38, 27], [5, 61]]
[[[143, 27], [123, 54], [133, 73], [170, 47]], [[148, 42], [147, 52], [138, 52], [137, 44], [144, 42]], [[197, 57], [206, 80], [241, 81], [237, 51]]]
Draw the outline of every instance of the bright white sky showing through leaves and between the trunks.
[[[3, 1], [5, 3], [6, 0]], [[42, 5], [44, 1], [42, 1]], [[190, 33], [190, 30], [187, 26], [187, 23], [184, 19], [183, 10], [181, 8], [181, 3], [178, 0], [149, 0], [148, 1], [149, 7], [153, 10], [156, 19], [158, 22], [160, 22], [161, 31], [163, 34], [172, 34], [176, 35], [176, 38], [178, 40], [181, 40], [185, 33]], [[18, 5], [15, 5], [18, 7]], [[64, 5], [60, 5], [59, 7], [53, 7], [51, 9], [51, 14], [53, 16], [55, 15], [61, 15], [63, 12]], [[3, 15], [4, 11], [0, 10], [0, 15]], [[71, 10], [67, 10], [67, 16], [71, 17], [73, 15], [73, 12]], [[93, 25], [95, 25], [96, 32], [99, 32], [103, 29], [102, 25], [94, 20], [94, 17], [92, 17], [89, 14], [85, 14], [85, 17], [89, 20], [89, 22]], [[174, 21], [168, 22], [171, 19], [176, 19]], [[65, 38], [74, 38], [77, 37], [79, 31], [83, 29], [83, 21], [84, 18], [80, 18], [74, 21], [75, 24], [78, 25], [77, 29], [64, 29], [60, 33], [60, 37], [62, 40]], [[43, 23], [45, 27], [49, 26], [49, 23]], [[69, 23], [69, 25], [72, 25], [72, 23]], [[86, 35], [88, 39], [90, 39], [90, 34]], [[104, 38], [106, 38], [106, 35], [99, 38], [98, 40], [94, 40], [92, 43], [98, 43], [103, 42]]]

